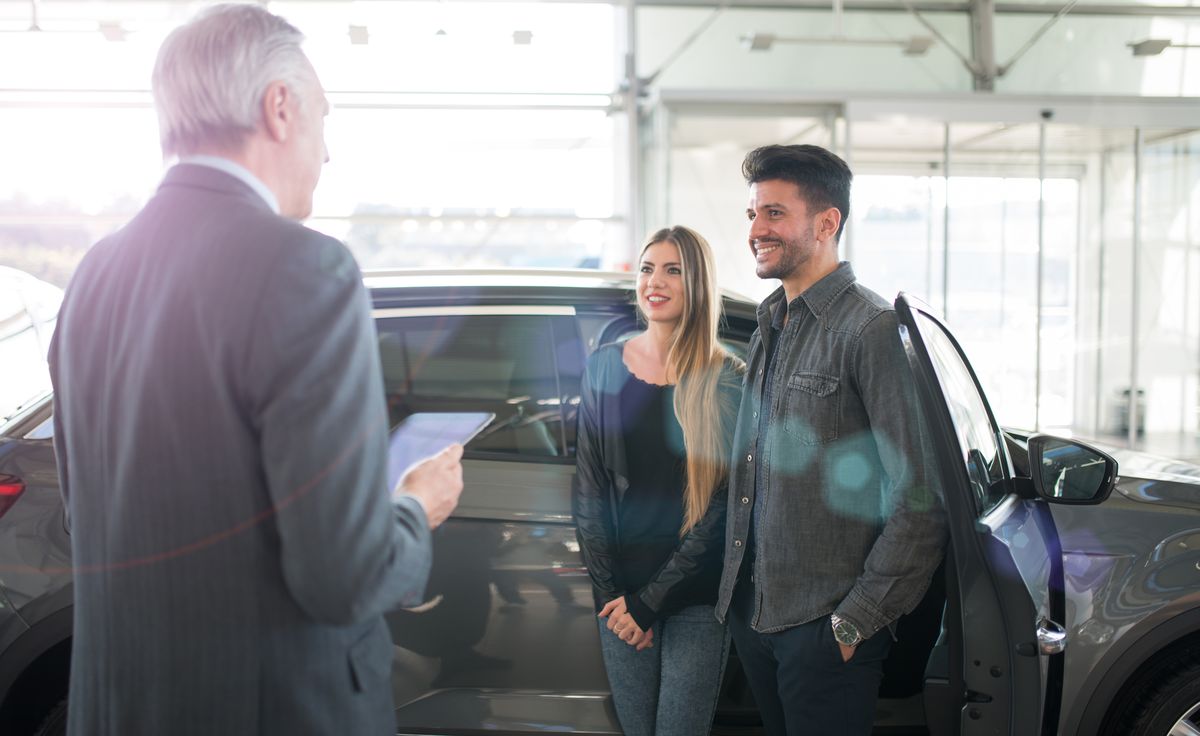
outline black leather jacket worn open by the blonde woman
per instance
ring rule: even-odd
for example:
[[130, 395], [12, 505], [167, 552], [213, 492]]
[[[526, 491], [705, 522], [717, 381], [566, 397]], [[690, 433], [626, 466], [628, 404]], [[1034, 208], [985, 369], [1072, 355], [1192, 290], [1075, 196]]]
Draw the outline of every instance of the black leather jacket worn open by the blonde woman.
[[[733, 357], [721, 371], [719, 390], [726, 409], [722, 424], [730, 433], [742, 397], [744, 371], [742, 361]], [[703, 570], [720, 569], [728, 486], [721, 484], [716, 489], [704, 516], [679, 540], [654, 579], [640, 591], [628, 590], [617, 560], [620, 544], [617, 508], [629, 489], [619, 402], [626, 376], [620, 345], [601, 346], [588, 359], [580, 399], [571, 510], [583, 563], [592, 576], [596, 610], [614, 598], [636, 594], [630, 614], [644, 629], [674, 610], [715, 600], [715, 587], [697, 591], [690, 584]]]

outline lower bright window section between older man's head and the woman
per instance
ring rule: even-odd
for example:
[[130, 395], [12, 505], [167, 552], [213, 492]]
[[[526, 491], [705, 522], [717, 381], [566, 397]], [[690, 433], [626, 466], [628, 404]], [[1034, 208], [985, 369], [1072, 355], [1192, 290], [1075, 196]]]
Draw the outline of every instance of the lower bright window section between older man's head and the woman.
[[343, 240], [364, 268], [628, 259], [605, 108], [388, 108], [335, 92], [330, 101], [331, 158], [310, 225]]

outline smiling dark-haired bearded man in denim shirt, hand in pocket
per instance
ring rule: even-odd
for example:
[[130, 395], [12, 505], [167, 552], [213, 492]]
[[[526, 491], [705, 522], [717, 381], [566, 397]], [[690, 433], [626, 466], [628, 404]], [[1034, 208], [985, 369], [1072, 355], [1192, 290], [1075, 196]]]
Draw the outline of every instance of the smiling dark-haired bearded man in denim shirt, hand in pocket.
[[946, 544], [895, 312], [838, 262], [846, 162], [768, 145], [742, 166], [760, 279], [718, 617], [770, 735], [870, 734], [889, 628]]

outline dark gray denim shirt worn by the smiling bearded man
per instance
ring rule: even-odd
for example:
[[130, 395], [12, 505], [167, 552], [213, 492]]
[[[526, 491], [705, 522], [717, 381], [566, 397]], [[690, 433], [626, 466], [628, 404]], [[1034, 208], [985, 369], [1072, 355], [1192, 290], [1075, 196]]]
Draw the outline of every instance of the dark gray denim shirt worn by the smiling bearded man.
[[[787, 310], [787, 324], [767, 346], [778, 310]], [[848, 263], [791, 304], [778, 289], [758, 307], [750, 339], [718, 617], [757, 516], [749, 556], [756, 632], [830, 612], [864, 636], [892, 624], [920, 602], [944, 552], [936, 478], [892, 305], [859, 286]]]

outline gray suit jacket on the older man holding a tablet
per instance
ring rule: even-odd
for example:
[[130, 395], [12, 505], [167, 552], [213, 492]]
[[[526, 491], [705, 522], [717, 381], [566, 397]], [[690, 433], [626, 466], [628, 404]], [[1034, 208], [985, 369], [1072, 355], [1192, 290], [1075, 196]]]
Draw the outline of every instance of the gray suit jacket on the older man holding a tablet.
[[385, 487], [346, 247], [176, 166], [79, 265], [50, 370], [70, 732], [394, 734], [382, 614], [420, 599], [430, 532]]

